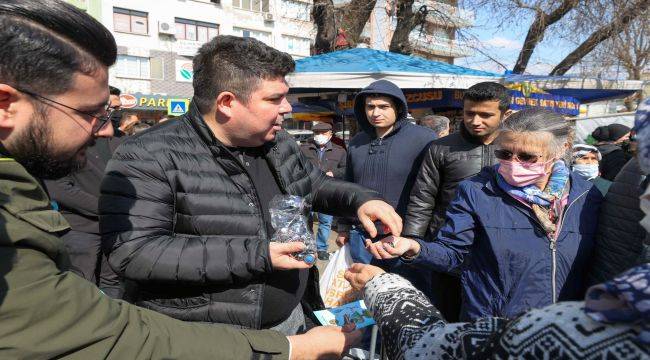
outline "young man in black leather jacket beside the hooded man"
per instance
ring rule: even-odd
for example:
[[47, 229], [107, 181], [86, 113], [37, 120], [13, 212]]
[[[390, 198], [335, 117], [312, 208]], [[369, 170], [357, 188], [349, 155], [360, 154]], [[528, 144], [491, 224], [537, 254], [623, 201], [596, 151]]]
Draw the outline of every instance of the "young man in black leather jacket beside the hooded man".
[[[509, 115], [508, 90], [495, 82], [473, 85], [463, 96], [463, 123], [454, 134], [438, 139], [427, 151], [417, 176], [406, 216], [404, 234], [435, 238], [445, 221], [447, 206], [458, 184], [497, 163], [492, 141]], [[432, 299], [448, 321], [457, 321], [460, 283], [456, 277], [434, 274]]]

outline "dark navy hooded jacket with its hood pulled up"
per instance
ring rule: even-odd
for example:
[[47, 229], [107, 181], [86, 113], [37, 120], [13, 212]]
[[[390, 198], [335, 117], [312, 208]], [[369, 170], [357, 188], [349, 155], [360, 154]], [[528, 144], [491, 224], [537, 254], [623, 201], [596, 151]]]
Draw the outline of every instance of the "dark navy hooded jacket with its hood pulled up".
[[[390, 96], [399, 107], [395, 128], [384, 138], [377, 138], [366, 117], [368, 94]], [[362, 131], [350, 140], [345, 180], [379, 192], [403, 216], [422, 158], [437, 135], [406, 120], [406, 97], [390, 81], [375, 81], [359, 92], [354, 99], [354, 114]]]

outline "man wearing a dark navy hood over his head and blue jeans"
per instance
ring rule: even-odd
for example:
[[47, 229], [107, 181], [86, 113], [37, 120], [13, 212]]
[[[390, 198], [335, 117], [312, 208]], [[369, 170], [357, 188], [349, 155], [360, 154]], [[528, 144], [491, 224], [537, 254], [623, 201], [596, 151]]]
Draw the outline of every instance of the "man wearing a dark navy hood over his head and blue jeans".
[[[377, 191], [403, 216], [422, 158], [436, 134], [406, 120], [406, 97], [386, 80], [375, 81], [356, 95], [354, 114], [361, 131], [348, 145], [345, 179]], [[365, 249], [368, 235], [363, 228], [340, 223], [337, 243], [349, 239], [352, 259], [369, 263], [372, 255]]]

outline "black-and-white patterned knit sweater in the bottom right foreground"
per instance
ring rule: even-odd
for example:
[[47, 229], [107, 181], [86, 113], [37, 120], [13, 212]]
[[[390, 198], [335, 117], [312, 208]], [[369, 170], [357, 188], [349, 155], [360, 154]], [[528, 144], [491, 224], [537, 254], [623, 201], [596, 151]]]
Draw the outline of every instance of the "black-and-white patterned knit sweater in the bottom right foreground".
[[389, 359], [650, 359], [638, 326], [596, 322], [584, 302], [449, 324], [411, 283], [388, 273], [368, 282], [365, 301]]

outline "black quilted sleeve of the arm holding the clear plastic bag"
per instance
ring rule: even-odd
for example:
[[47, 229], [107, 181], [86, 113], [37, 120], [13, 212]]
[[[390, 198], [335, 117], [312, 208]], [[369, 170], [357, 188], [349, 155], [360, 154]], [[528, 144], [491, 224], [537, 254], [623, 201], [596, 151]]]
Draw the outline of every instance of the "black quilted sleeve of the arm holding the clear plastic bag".
[[155, 151], [138, 138], [115, 152], [101, 193], [102, 243], [111, 267], [126, 279], [231, 284], [272, 271], [266, 242], [175, 233], [170, 182]]

